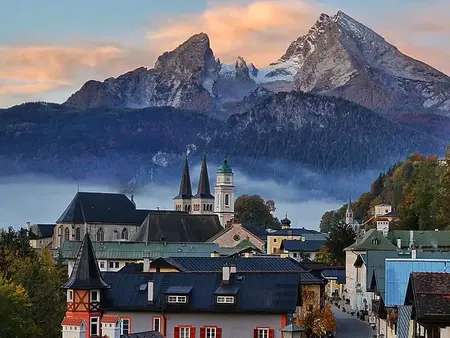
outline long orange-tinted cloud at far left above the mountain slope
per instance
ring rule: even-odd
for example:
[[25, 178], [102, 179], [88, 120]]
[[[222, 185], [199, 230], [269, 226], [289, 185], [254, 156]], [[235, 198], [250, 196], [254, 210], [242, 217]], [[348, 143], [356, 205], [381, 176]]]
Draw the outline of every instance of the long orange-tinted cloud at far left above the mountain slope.
[[34, 97], [28, 94], [63, 89], [69, 95], [89, 79], [103, 80], [141, 66], [144, 54], [148, 57], [120, 45], [0, 46], [0, 106], [17, 97]]

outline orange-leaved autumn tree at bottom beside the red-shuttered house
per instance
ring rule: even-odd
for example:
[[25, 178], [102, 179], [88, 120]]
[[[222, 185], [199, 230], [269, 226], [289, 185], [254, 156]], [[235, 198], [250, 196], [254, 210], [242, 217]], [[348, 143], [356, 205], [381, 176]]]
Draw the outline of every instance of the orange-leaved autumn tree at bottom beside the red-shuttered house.
[[306, 337], [325, 337], [327, 332], [336, 330], [336, 319], [327, 304], [321, 310], [303, 311], [296, 324], [305, 330]]

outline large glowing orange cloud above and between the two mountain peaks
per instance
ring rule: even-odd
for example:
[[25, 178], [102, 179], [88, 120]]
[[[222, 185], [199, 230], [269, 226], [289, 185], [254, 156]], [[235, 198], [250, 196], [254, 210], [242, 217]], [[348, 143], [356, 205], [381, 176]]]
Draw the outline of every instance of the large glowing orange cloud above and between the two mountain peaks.
[[222, 4], [161, 23], [148, 32], [147, 38], [163, 52], [191, 35], [206, 32], [216, 57], [222, 61], [234, 62], [237, 56], [243, 56], [257, 66], [265, 66], [307, 32], [319, 13], [318, 7], [303, 0]]

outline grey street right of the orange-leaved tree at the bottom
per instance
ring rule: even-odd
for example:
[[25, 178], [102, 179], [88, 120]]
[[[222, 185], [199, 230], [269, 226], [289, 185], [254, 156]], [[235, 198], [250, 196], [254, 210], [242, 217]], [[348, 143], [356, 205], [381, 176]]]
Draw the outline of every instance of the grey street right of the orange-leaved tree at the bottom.
[[333, 306], [334, 317], [337, 322], [336, 338], [372, 338], [375, 331], [366, 322], [360, 321]]

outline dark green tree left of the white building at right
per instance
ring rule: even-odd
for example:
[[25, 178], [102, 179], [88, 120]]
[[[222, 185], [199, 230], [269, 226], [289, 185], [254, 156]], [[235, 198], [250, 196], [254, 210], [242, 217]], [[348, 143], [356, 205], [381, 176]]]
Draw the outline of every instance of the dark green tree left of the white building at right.
[[356, 234], [348, 225], [341, 223], [331, 229], [325, 245], [328, 248], [333, 265], [345, 265], [344, 249], [352, 245], [355, 239]]

